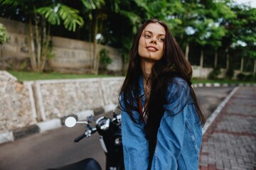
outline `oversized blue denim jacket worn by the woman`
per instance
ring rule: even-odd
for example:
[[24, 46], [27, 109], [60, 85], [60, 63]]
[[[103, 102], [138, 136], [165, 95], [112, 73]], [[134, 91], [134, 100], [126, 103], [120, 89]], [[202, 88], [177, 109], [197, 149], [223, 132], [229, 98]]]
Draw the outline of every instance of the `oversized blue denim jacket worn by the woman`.
[[[145, 103], [143, 80], [139, 79], [139, 97]], [[121, 98], [121, 105], [124, 102]], [[151, 169], [198, 169], [202, 141], [202, 127], [190, 89], [186, 81], [174, 78], [166, 93], [167, 104], [157, 132], [156, 149]], [[144, 132], [145, 123], [133, 111], [137, 123], [122, 111], [122, 144], [126, 170], [146, 170], [149, 166], [149, 141]]]

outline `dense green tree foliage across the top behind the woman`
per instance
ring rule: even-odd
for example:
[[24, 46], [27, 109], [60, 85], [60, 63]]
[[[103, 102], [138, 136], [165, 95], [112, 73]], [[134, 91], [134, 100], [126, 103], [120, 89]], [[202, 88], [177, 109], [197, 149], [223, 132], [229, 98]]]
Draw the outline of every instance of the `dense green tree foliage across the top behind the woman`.
[[[0, 3], [2, 16], [43, 26], [39, 30], [47, 30], [46, 37], [53, 30], [51, 35], [92, 42], [91, 62], [96, 74], [100, 62], [97, 44], [119, 48], [125, 61], [134, 34], [149, 18], [158, 18], [169, 25], [191, 64], [198, 64], [200, 52], [206, 54], [206, 65], [213, 63], [211, 56], [215, 56], [218, 67], [227, 67], [230, 61], [236, 63], [245, 57], [245, 70], [252, 71], [252, 60], [256, 60], [256, 9], [236, 4], [234, 0], [0, 0]], [[36, 34], [39, 33], [33, 36]], [[100, 39], [96, 40], [96, 36]], [[41, 45], [46, 42], [45, 39]], [[38, 52], [42, 53], [42, 49]], [[236, 64], [232, 67], [238, 69]]]

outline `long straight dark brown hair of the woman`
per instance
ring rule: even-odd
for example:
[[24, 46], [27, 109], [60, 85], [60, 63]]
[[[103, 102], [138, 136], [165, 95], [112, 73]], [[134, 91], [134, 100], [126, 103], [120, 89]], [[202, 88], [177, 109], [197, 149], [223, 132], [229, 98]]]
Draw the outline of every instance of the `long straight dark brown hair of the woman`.
[[[146, 108], [148, 120], [145, 132], [146, 137], [148, 137], [150, 142], [156, 140], [160, 120], [164, 114], [163, 105], [166, 103], [166, 90], [168, 83], [174, 77], [181, 77], [187, 81], [188, 86], [191, 89], [191, 96], [195, 102], [198, 118], [200, 119], [202, 126], [204, 125], [206, 118], [198, 105], [196, 95], [191, 87], [191, 64], [186, 60], [181, 48], [178, 46], [173, 35], [171, 35], [169, 26], [156, 19], [150, 19], [144, 22], [144, 24], [139, 28], [137, 34], [134, 36], [133, 45], [129, 54], [130, 58], [127, 76], [124, 79], [124, 84], [122, 85], [119, 93], [119, 95], [123, 94], [124, 96], [124, 107], [121, 106], [121, 109], [124, 109], [130, 115], [132, 120], [134, 120], [132, 111], [138, 111], [136, 97], [139, 95], [139, 77], [142, 74], [140, 64], [141, 58], [139, 57], [138, 52], [139, 38], [142, 35], [142, 31], [149, 23], [159, 23], [166, 31], [166, 38], [164, 40], [164, 56], [154, 64], [149, 77], [149, 79], [151, 79], [151, 94]], [[154, 149], [154, 145], [152, 149]]]

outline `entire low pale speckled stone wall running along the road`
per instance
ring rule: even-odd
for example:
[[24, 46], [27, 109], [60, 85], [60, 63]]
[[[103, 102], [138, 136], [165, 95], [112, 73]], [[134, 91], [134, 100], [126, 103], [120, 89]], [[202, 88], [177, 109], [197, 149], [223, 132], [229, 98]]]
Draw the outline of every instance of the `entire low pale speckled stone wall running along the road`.
[[111, 111], [123, 80], [124, 77], [112, 77], [21, 84], [8, 72], [0, 71], [0, 136], [6, 134], [11, 140], [12, 135], [8, 134], [19, 128], [86, 111]]

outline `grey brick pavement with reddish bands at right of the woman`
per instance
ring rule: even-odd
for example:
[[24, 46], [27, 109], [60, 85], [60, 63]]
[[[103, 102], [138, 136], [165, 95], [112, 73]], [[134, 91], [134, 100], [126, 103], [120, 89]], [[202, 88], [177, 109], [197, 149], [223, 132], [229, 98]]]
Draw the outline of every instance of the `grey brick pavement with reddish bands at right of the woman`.
[[256, 87], [240, 86], [203, 135], [199, 169], [256, 170]]

